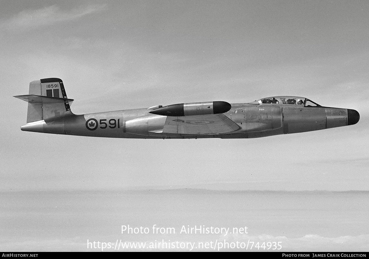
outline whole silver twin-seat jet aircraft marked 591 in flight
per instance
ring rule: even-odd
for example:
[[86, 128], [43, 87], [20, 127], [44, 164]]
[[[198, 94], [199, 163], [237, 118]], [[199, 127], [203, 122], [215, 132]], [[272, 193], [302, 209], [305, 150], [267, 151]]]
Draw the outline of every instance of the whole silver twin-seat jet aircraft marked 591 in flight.
[[70, 110], [61, 79], [30, 83], [23, 131], [112, 138], [258, 138], [353, 125], [356, 110], [321, 106], [305, 97], [274, 96], [251, 103], [225, 101], [108, 111]]

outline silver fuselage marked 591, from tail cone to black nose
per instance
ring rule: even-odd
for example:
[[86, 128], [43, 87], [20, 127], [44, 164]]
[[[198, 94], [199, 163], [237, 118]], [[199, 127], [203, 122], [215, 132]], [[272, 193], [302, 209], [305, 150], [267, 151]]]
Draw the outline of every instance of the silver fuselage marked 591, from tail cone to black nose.
[[[71, 111], [52, 121], [35, 121], [24, 131], [111, 138], [258, 138], [279, 134], [315, 131], [352, 125], [358, 122], [355, 110], [331, 107], [306, 107], [296, 104], [231, 104], [223, 113], [239, 129], [226, 134], [168, 134], [160, 132], [166, 117], [149, 113], [147, 108], [75, 115]], [[186, 116], [177, 117], [183, 123]]]

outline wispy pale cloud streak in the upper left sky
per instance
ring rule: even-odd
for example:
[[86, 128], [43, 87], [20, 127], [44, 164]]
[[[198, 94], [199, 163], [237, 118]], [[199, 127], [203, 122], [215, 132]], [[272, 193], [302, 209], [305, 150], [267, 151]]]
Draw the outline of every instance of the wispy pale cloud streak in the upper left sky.
[[76, 20], [85, 15], [100, 12], [105, 7], [106, 5], [90, 5], [65, 11], [53, 5], [37, 10], [23, 10], [8, 20], [3, 20], [0, 23], [0, 28], [7, 31], [23, 32], [59, 22]]

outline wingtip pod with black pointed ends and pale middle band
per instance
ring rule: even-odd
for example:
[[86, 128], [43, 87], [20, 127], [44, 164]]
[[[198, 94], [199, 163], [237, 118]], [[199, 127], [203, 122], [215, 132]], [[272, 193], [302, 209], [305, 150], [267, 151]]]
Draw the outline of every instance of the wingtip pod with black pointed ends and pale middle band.
[[152, 110], [150, 113], [163, 116], [220, 114], [226, 113], [231, 109], [231, 107], [231, 104], [225, 101], [212, 101], [207, 103], [180, 103], [164, 106]]

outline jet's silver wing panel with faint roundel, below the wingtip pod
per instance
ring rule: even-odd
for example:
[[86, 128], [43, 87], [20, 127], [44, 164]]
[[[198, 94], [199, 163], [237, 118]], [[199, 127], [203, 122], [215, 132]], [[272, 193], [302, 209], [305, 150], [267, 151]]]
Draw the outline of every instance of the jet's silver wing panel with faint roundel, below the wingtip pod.
[[207, 114], [194, 116], [168, 116], [163, 133], [207, 135], [224, 134], [238, 130], [240, 127], [224, 114]]

